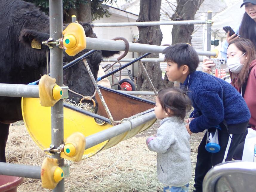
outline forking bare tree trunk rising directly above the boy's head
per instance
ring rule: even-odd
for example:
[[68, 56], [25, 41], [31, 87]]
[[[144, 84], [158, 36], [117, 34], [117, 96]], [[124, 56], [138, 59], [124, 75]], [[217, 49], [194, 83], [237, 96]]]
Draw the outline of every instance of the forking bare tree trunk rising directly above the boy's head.
[[[172, 15], [173, 21], [195, 20], [195, 13], [204, 0], [177, 0], [175, 13]], [[174, 25], [172, 28], [172, 45], [176, 43], [191, 44], [191, 34], [194, 25]]]

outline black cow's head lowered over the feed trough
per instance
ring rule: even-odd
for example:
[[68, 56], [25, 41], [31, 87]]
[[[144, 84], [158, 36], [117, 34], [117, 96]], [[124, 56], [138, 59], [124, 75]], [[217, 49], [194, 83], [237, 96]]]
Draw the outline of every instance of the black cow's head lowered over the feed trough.
[[[87, 37], [97, 38], [90, 24], [88, 23], [80, 23], [80, 24], [84, 27], [84, 31]], [[63, 28], [65, 28], [66, 26], [67, 25], [64, 24]], [[47, 40], [48, 38], [49, 38], [49, 34], [47, 33], [42, 33], [42, 32], [28, 30], [28, 29], [23, 29], [19, 37], [20, 41], [25, 46], [30, 47], [31, 51], [38, 52], [38, 58], [37, 58], [38, 65], [42, 65], [42, 64], [45, 65], [44, 71], [41, 71], [38, 73], [46, 73], [46, 50], [48, 49], [48, 47], [45, 45], [41, 45], [42, 49], [33, 49], [31, 48], [31, 43], [33, 39], [35, 39], [38, 42], [42, 42]], [[89, 50], [85, 49], [75, 56], [69, 56], [66, 54], [66, 52], [64, 52], [63, 63], [64, 64], [69, 63], [70, 61], [73, 61], [75, 58], [78, 58], [79, 56], [83, 55], [88, 51]], [[107, 58], [116, 53], [119, 53], [119, 52], [100, 50], [86, 58], [87, 63], [89, 64], [95, 79], [97, 79], [99, 64], [101, 62], [102, 57]], [[40, 74], [40, 75], [43, 75], [43, 74]], [[80, 61], [77, 64], [73, 65], [72, 67], [66, 69], [63, 75], [64, 75], [64, 85], [67, 85], [69, 89], [84, 96], [92, 96], [94, 94], [95, 88], [83, 61]], [[73, 92], [69, 92], [69, 99], [74, 101], [75, 103], [79, 103], [81, 98], [82, 98], [81, 96], [76, 95]], [[87, 102], [92, 103], [90, 101], [87, 101]], [[97, 107], [95, 110], [97, 110]]]

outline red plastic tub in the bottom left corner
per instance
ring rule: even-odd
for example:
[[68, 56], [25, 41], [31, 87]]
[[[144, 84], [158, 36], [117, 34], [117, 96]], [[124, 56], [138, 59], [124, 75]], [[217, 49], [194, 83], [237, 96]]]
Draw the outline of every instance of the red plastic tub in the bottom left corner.
[[0, 191], [17, 192], [17, 186], [22, 181], [23, 177], [0, 175]]

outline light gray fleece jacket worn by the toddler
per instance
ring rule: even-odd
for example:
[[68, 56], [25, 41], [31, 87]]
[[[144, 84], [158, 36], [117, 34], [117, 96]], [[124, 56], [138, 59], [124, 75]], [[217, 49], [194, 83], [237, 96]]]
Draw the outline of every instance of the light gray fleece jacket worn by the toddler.
[[178, 117], [166, 117], [160, 124], [157, 137], [148, 144], [150, 151], [157, 152], [158, 179], [169, 186], [186, 185], [192, 176], [190, 135]]

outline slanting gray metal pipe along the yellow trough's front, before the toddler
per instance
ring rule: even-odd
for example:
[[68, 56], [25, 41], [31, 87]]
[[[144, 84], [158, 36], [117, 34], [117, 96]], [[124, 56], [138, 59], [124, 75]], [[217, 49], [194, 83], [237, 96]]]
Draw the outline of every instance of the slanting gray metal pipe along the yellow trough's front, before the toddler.
[[112, 137], [115, 137], [119, 134], [129, 131], [137, 126], [140, 126], [146, 123], [147, 121], [153, 120], [154, 118], [156, 118], [155, 112], [152, 111], [142, 116], [136, 117], [134, 119], [130, 119], [132, 124], [129, 121], [124, 121], [119, 125], [113, 126], [111, 128], [105, 129], [98, 133], [92, 134], [88, 137], [85, 137], [85, 141], [86, 141], [85, 149], [98, 145], [99, 143], [102, 143], [106, 140], [111, 139]]

